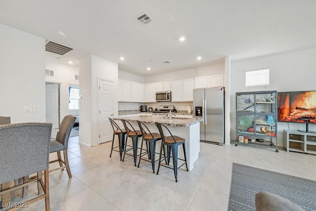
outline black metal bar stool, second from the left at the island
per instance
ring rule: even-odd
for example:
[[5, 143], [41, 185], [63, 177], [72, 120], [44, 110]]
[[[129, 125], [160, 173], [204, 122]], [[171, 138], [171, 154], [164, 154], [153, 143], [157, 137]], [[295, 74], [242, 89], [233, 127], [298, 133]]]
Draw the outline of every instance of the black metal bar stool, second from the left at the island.
[[[125, 137], [125, 146], [124, 146], [124, 155], [123, 155], [123, 159], [122, 162], [124, 162], [124, 158], [125, 158], [125, 154], [126, 152], [128, 152], [129, 150], [133, 150], [133, 157], [134, 157], [134, 164], [136, 167], [136, 162], [137, 162], [137, 149], [138, 149], [138, 137], [143, 136], [142, 131], [140, 130], [135, 130], [134, 127], [126, 120], [121, 120], [123, 122], [125, 131], [126, 131], [126, 137]], [[127, 126], [128, 125], [128, 126]], [[131, 128], [131, 129], [130, 129]], [[127, 138], [131, 138], [132, 139], [132, 143], [133, 146], [132, 148], [129, 148], [126, 150], [126, 146], [127, 146]], [[147, 146], [147, 144], [146, 144]], [[148, 151], [148, 146], [147, 146], [147, 151]]]

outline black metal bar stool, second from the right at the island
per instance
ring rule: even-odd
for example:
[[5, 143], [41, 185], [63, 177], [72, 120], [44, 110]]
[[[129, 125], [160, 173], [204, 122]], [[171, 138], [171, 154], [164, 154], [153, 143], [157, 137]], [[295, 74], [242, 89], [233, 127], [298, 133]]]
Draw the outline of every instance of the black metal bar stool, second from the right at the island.
[[[161, 136], [157, 132], [152, 133], [144, 123], [142, 123], [138, 120], [137, 120], [137, 123], [138, 123], [138, 126], [139, 126], [142, 134], [143, 134], [142, 144], [140, 147], [140, 156], [139, 156], [139, 161], [138, 161], [138, 168], [139, 168], [140, 160], [144, 156], [144, 155], [142, 155], [143, 142], [146, 141], [146, 145], [147, 145], [147, 142], [149, 143], [149, 152], [147, 151], [147, 153], [149, 153], [149, 155], [150, 155], [149, 159], [150, 159], [150, 162], [152, 162], [153, 173], [155, 173], [156, 142], [158, 140], [161, 140]], [[164, 148], [163, 148], [163, 154], [165, 155]], [[142, 160], [148, 161], [145, 159], [142, 159]], [[167, 164], [167, 162], [166, 162], [166, 164]]]

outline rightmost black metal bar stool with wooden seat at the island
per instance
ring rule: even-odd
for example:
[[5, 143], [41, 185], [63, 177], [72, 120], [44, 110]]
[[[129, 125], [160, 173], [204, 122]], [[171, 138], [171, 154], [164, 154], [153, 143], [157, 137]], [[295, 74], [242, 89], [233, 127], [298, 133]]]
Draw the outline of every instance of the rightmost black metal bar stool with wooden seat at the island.
[[[186, 156], [186, 148], [185, 148], [185, 139], [184, 138], [181, 138], [179, 136], [176, 136], [176, 135], [172, 135], [170, 130], [165, 126], [165, 125], [162, 125], [160, 123], [155, 123], [155, 125], [158, 127], [158, 130], [160, 132], [160, 136], [161, 136], [161, 148], [160, 148], [160, 155], [159, 155], [159, 165], [158, 165], [158, 170], [157, 170], [157, 174], [159, 172], [159, 168], [160, 168], [160, 163], [161, 163], [161, 154], [162, 154], [162, 148], [164, 148], [164, 145], [167, 146], [168, 148], [168, 152], [167, 152], [167, 157], [168, 157], [168, 162], [167, 164], [169, 165], [169, 159], [170, 159], [170, 148], [171, 148], [171, 151], [172, 151], [172, 160], [173, 160], [173, 168], [170, 168], [168, 166], [164, 166], [164, 165], [161, 165], [161, 166], [164, 166], [164, 167], [167, 167], [169, 169], [173, 169], [174, 171], [174, 177], [176, 178], [176, 182], [178, 182], [178, 169], [181, 168], [183, 165], [186, 165], [186, 168], [187, 168], [187, 171], [189, 171], [188, 169], [188, 164], [187, 164], [187, 156]], [[170, 136], [164, 136], [163, 135], [163, 130], [162, 130], [162, 127], [165, 127]], [[183, 159], [180, 159], [178, 158], [178, 146], [182, 144], [182, 147], [183, 147], [183, 154], [184, 154], [184, 160]], [[164, 160], [166, 159], [166, 157], [164, 156]], [[184, 163], [178, 167], [178, 160], [182, 160], [184, 161]]]

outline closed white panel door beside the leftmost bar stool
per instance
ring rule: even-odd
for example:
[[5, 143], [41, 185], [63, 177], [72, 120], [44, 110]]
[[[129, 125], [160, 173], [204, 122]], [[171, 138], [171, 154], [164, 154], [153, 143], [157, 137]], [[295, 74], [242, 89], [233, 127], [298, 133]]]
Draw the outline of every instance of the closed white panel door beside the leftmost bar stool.
[[98, 106], [99, 106], [99, 144], [111, 141], [113, 129], [109, 118], [114, 116], [113, 82], [98, 80]]

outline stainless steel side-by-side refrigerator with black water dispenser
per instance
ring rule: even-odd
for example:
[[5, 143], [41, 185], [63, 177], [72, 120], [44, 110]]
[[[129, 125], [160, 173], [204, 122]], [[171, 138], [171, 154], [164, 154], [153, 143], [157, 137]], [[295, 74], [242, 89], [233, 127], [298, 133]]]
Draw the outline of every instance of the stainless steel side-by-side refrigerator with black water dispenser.
[[209, 143], [225, 143], [224, 87], [193, 90], [193, 115], [203, 118], [200, 123], [200, 139]]

